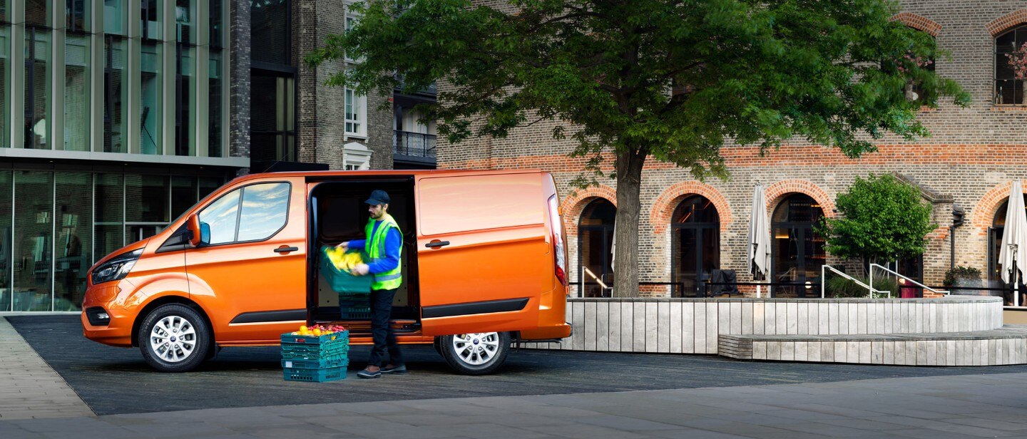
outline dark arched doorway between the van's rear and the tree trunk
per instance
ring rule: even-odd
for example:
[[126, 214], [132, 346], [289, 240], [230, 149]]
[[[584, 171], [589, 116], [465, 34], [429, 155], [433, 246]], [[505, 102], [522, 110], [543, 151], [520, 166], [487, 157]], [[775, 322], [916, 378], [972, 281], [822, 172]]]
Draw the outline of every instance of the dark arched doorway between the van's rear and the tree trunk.
[[[616, 215], [617, 207], [613, 203], [597, 198], [581, 209], [578, 222], [578, 270], [588, 269], [608, 287], [613, 286], [613, 225]], [[580, 296], [609, 295], [609, 290], [604, 290], [591, 275], [578, 275], [581, 276]]]

